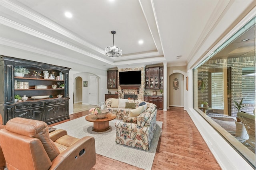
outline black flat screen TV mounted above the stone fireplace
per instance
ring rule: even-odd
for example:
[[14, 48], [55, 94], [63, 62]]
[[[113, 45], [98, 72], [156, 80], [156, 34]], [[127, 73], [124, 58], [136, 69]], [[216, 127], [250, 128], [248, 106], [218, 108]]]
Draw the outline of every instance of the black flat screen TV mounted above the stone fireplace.
[[141, 71], [119, 72], [119, 85], [140, 85]]

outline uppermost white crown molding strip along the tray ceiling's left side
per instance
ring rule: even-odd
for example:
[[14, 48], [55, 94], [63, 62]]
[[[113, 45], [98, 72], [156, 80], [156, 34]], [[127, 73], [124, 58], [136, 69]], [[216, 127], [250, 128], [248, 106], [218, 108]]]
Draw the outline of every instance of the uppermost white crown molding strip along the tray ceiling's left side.
[[44, 16], [39, 16], [39, 14], [35, 14], [33, 12], [30, 12], [29, 10], [25, 9], [27, 8], [26, 6], [19, 4], [20, 6], [18, 6], [17, 4], [10, 2], [8, 0], [1, 0], [0, 4], [2, 6], [4, 6], [5, 8], [8, 8], [9, 10], [12, 10], [13, 12], [16, 12], [17, 14], [20, 14], [32, 21], [35, 21], [36, 23], [39, 23], [41, 25], [43, 25], [44, 27], [47, 27], [53, 31], [56, 31], [57, 33], [60, 33], [90, 49], [93, 49], [94, 51], [97, 51], [98, 53], [101, 53], [104, 55], [104, 50], [101, 48], [98, 48], [86, 41], [84, 41], [83, 39], [80, 39], [79, 37], [75, 36], [74, 34], [70, 33], [69, 31], [67, 31], [66, 29], [64, 29], [63, 27], [61, 27], [60, 25], [57, 25], [55, 23], [52, 23], [50, 20], [48, 20], [47, 18], [45, 18]]

